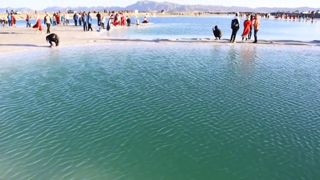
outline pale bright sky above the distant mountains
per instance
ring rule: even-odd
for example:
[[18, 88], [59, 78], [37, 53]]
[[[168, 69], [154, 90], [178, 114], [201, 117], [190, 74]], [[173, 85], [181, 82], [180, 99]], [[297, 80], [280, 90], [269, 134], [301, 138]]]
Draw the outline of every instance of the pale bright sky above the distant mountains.
[[[137, 0], [1, 0], [0, 7], [29, 7], [44, 9], [48, 6], [122, 6], [135, 3]], [[320, 0], [154, 0], [180, 4], [204, 4], [247, 7], [319, 7]], [[245, 3], [243, 3], [245, 2]]]

